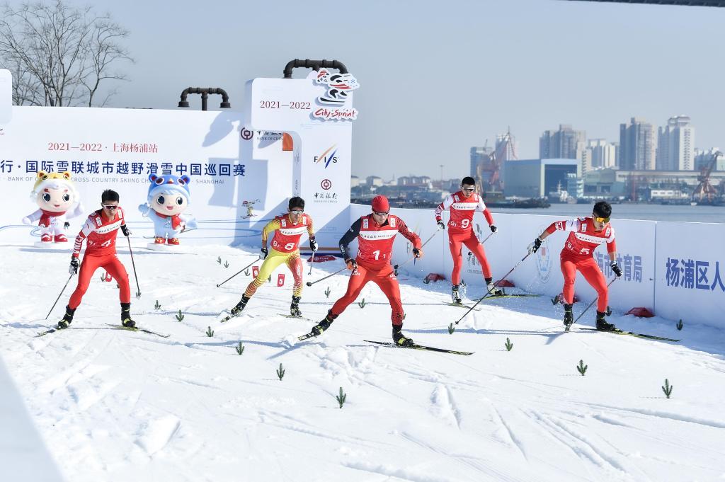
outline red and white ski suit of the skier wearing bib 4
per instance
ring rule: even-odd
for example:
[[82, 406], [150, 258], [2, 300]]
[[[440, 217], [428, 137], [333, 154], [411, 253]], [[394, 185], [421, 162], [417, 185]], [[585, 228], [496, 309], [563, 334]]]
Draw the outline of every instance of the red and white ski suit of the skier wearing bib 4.
[[70, 295], [68, 307], [75, 309], [86, 294], [88, 285], [91, 283], [93, 274], [99, 267], [107, 271], [116, 280], [120, 287], [121, 303], [130, 303], [131, 291], [128, 286], [128, 273], [116, 256], [116, 235], [118, 228], [125, 225], [123, 209], [116, 209], [112, 220], [107, 221], [102, 214], [103, 209], [94, 212], [86, 220], [86, 224], [80, 229], [75, 237], [73, 245], [73, 257], [80, 255], [80, 246], [83, 240], [87, 240], [86, 253], [83, 254], [83, 262], [78, 270], [78, 286]]

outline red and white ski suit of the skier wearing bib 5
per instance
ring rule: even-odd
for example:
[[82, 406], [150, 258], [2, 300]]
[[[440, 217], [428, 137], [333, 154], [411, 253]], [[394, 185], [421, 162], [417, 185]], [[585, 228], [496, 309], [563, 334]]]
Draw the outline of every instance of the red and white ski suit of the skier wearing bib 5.
[[561, 250], [561, 273], [564, 275], [564, 301], [571, 304], [574, 299], [574, 280], [576, 270], [579, 270], [584, 279], [592, 288], [597, 290], [597, 311], [607, 311], [609, 290], [607, 279], [597, 266], [594, 259], [594, 250], [600, 244], [607, 245], [608, 253], [615, 253], [617, 246], [614, 242], [614, 228], [607, 223], [600, 231], [595, 230], [591, 217], [578, 217], [576, 219], [557, 221], [546, 228], [547, 233], [556, 230], [569, 231], [564, 249]]

